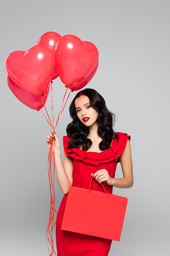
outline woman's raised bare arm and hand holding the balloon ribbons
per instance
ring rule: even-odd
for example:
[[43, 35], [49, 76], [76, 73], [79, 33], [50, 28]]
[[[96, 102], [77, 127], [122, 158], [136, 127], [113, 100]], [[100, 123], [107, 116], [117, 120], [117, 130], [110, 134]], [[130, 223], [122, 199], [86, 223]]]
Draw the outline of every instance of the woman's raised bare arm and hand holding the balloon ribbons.
[[52, 132], [50, 136], [47, 136], [47, 145], [50, 148], [54, 140], [54, 159], [55, 159], [55, 171], [57, 176], [58, 185], [61, 191], [65, 194], [68, 193], [70, 186], [72, 186], [72, 171], [73, 160], [64, 153], [64, 165], [61, 157], [60, 141], [55, 133]]

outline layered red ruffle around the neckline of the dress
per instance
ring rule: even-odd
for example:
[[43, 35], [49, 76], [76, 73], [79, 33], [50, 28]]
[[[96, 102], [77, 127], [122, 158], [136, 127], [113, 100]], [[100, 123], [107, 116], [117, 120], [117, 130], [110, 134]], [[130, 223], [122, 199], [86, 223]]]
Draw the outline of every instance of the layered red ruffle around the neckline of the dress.
[[119, 157], [123, 153], [127, 140], [131, 139], [127, 133], [117, 133], [119, 140], [114, 139], [111, 147], [103, 152], [86, 152], [79, 148], [68, 149], [68, 143], [70, 137], [63, 136], [64, 151], [67, 156], [73, 157], [76, 160], [82, 160], [86, 164], [99, 165], [100, 163], [108, 163], [118, 158], [117, 162], [120, 162]]

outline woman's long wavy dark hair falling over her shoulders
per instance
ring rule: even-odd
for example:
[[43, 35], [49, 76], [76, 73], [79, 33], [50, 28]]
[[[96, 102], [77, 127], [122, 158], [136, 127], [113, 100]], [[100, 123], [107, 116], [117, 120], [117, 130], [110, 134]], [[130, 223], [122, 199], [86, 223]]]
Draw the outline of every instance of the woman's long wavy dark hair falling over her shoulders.
[[104, 98], [94, 89], [84, 89], [78, 92], [70, 104], [70, 117], [73, 121], [67, 125], [66, 129], [70, 137], [68, 149], [81, 148], [87, 151], [92, 144], [91, 139], [87, 138], [89, 129], [79, 120], [75, 110], [75, 100], [82, 95], [89, 98], [90, 106], [98, 112], [98, 135], [102, 138], [99, 149], [105, 151], [110, 148], [112, 140], [114, 138], [118, 140], [119, 137], [113, 131], [114, 113], [107, 109]]

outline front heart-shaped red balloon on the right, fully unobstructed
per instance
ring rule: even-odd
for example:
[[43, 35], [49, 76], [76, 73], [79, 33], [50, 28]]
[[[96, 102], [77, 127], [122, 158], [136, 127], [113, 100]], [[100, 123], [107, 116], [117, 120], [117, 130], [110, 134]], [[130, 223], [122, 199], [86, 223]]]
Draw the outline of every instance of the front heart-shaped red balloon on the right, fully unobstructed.
[[65, 85], [79, 83], [96, 67], [99, 59], [97, 47], [73, 35], [61, 37], [55, 48], [55, 63]]

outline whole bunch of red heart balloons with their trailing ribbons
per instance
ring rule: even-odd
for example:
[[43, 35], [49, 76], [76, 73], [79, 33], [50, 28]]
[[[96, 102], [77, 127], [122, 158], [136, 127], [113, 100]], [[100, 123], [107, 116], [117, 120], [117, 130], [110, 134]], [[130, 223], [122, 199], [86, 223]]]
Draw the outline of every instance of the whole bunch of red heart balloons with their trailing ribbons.
[[[80, 90], [94, 77], [99, 65], [98, 59], [99, 53], [94, 44], [87, 41], [81, 41], [80, 38], [73, 35], [61, 37], [56, 32], [47, 32], [41, 36], [37, 44], [30, 48], [27, 52], [15, 51], [7, 56], [5, 60], [7, 84], [12, 93], [20, 100], [20, 102], [38, 111], [45, 107], [50, 91], [50, 82], [52, 93], [52, 80], [59, 76], [67, 88], [66, 92], [68, 88], [71, 91]], [[66, 92], [63, 98], [63, 103]], [[51, 105], [53, 117], [53, 101]], [[62, 109], [62, 106], [58, 114], [56, 125], [64, 110], [64, 107]], [[44, 116], [47, 119], [51, 129], [54, 131], [56, 127], [56, 125], [54, 126], [54, 118], [53, 122], [51, 122], [47, 110], [46, 113], [48, 119], [45, 115]], [[52, 231], [55, 226], [54, 213], [56, 212], [54, 208], [55, 170], [53, 165], [54, 156], [52, 154], [54, 151], [53, 147], [54, 146], [52, 143], [48, 156], [51, 204], [46, 238], [47, 244], [49, 242], [52, 247], [51, 254], [49, 252], [50, 256], [52, 256], [53, 253], [55, 254], [54, 242], [52, 239]]]

